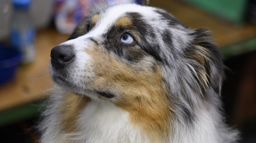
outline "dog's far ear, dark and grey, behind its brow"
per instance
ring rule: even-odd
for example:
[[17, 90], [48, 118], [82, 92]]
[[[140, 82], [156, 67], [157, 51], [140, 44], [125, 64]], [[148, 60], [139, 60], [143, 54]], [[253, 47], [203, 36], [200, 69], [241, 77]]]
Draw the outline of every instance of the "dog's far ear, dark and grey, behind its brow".
[[[69, 36], [68, 40], [75, 39], [79, 36], [82, 36], [88, 32], [88, 24], [90, 24], [91, 18], [98, 13], [99, 11], [110, 7], [110, 5], [104, 2], [95, 2], [93, 5], [88, 9], [89, 13], [87, 17], [82, 19], [75, 27], [73, 33]], [[90, 25], [89, 25], [90, 26]]]

